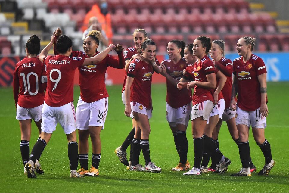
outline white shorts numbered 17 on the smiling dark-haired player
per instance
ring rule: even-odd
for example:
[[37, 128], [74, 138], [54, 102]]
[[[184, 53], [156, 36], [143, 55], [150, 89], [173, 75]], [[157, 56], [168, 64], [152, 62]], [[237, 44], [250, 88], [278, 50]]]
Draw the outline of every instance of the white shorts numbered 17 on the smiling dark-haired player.
[[172, 127], [175, 127], [176, 124], [188, 126], [189, 119], [191, 118], [191, 111], [191, 102], [177, 109], [166, 103], [166, 120]]

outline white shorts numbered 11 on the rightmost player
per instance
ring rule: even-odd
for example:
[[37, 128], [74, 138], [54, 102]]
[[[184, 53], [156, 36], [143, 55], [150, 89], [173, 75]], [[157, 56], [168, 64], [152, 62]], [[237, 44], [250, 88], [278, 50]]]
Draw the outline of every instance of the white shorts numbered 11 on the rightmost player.
[[236, 109], [236, 125], [247, 125], [264, 129], [266, 128], [266, 117], [260, 113], [260, 108], [255, 111], [244, 111], [237, 107]]

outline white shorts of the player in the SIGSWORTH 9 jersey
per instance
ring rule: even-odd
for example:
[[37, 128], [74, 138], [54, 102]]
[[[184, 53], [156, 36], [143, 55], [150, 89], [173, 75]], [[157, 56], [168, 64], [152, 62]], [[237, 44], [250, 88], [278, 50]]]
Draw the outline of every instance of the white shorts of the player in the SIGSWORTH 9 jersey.
[[73, 102], [60, 107], [50, 107], [45, 101], [42, 108], [41, 131], [53, 133], [59, 123], [65, 134], [70, 134], [76, 130], [76, 117]]

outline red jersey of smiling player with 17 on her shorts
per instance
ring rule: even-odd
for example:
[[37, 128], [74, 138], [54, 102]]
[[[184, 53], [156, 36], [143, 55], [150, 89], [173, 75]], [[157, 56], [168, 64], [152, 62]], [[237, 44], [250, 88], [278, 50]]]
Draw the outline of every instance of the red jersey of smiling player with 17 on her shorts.
[[[162, 64], [166, 66], [166, 72], [176, 80], [180, 80], [183, 76], [183, 70], [186, 68], [187, 64], [184, 59], [174, 64], [171, 60], [163, 60]], [[169, 106], [173, 108], [180, 108], [191, 100], [191, 89], [179, 90], [175, 85], [173, 85], [169, 80], [166, 80], [166, 102]]]

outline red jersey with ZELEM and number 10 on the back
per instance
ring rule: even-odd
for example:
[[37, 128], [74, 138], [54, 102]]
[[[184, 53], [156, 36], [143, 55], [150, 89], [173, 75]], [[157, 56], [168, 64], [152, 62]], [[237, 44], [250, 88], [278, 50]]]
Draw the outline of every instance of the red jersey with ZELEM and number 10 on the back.
[[[13, 74], [15, 104], [23, 108], [34, 108], [43, 104], [42, 83], [47, 82], [45, 66], [38, 58], [23, 58], [16, 64]], [[19, 91], [20, 88], [20, 91]]]

